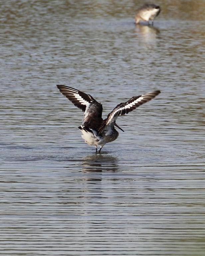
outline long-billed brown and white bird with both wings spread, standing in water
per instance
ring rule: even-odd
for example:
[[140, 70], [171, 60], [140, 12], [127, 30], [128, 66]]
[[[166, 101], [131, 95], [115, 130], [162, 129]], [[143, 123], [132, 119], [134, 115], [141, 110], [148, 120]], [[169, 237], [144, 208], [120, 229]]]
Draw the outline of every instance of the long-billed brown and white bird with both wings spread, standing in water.
[[[153, 91], [134, 96], [128, 101], [118, 104], [103, 120], [103, 106], [90, 94], [65, 85], [57, 85], [57, 87], [76, 107], [83, 110], [83, 123], [78, 128], [81, 130], [85, 142], [96, 147], [96, 153], [101, 152], [104, 144], [114, 141], [118, 137], [119, 133], [114, 126], [122, 130], [115, 122], [119, 115], [128, 114], [160, 93], [160, 91]], [[98, 145], [101, 146], [99, 150], [97, 149]]]

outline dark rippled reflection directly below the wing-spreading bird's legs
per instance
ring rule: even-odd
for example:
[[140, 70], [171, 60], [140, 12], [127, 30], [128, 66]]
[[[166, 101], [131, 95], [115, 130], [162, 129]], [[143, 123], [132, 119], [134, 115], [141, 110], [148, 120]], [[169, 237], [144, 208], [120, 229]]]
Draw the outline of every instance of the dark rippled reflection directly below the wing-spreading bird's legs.
[[116, 172], [118, 170], [116, 158], [105, 154], [84, 157], [82, 167], [84, 172]]

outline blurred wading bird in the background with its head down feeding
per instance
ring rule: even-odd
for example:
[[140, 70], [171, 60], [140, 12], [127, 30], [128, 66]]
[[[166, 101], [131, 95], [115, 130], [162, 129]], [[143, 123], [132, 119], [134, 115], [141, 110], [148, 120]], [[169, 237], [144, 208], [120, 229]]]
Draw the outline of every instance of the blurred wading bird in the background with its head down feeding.
[[144, 4], [142, 7], [137, 9], [137, 13], [135, 15], [135, 23], [138, 24], [140, 21], [152, 21], [153, 26], [153, 20], [156, 16], [158, 16], [160, 13], [160, 7], [155, 4]]

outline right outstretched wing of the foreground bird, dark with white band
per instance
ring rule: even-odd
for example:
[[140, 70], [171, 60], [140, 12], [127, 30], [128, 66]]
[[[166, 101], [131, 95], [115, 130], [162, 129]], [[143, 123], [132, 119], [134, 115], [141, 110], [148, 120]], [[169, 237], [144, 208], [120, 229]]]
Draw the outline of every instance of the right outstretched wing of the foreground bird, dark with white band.
[[115, 122], [117, 117], [119, 115], [123, 116], [125, 114], [128, 114], [135, 108], [139, 107], [140, 105], [146, 103], [147, 101], [150, 101], [153, 99], [155, 96], [157, 96], [160, 93], [160, 91], [153, 91], [153, 92], [148, 92], [143, 95], [139, 96], [134, 96], [128, 101], [124, 103], [118, 104], [108, 115], [107, 118], [104, 120], [103, 125], [100, 128], [99, 133], [102, 133], [107, 126], [111, 125], [112, 123]]

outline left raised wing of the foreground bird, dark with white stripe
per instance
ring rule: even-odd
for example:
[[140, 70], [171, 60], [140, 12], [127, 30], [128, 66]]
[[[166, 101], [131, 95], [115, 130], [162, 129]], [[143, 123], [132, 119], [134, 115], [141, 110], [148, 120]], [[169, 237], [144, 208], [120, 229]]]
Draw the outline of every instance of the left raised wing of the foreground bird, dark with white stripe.
[[97, 129], [102, 122], [102, 105], [90, 94], [65, 85], [57, 85], [60, 92], [84, 112], [83, 125]]

